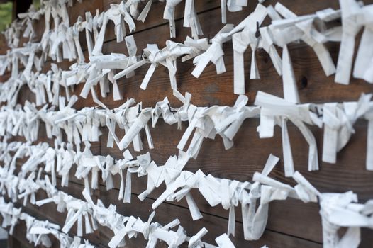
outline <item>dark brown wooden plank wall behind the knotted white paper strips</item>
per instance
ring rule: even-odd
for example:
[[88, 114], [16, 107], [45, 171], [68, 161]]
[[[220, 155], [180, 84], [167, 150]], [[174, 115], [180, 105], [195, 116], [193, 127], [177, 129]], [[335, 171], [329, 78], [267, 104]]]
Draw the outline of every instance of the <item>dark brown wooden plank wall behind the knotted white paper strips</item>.
[[[84, 0], [83, 4], [75, 4], [73, 8], [69, 8], [71, 23], [77, 20], [77, 16], [84, 16], [84, 12], [91, 11], [95, 13], [96, 9], [100, 11], [109, 8], [113, 2], [119, 0]], [[247, 8], [236, 13], [228, 12], [228, 23], [237, 24], [243, 20], [257, 4], [257, 1], [251, 0]], [[339, 9], [338, 1], [309, 1], [309, 0], [281, 0], [282, 4], [287, 6], [297, 15], [313, 13], [321, 9], [332, 7]], [[265, 1], [265, 6], [276, 4], [276, 1]], [[365, 2], [367, 4], [367, 2]], [[145, 23], [136, 22], [136, 30], [133, 33], [135, 41], [138, 45], [138, 50], [142, 50], [147, 44], [157, 43], [159, 47], [165, 46], [165, 41], [169, 39], [169, 25], [162, 18], [165, 3], [155, 1]], [[197, 0], [196, 10], [198, 11], [199, 21], [204, 30], [204, 36], [212, 38], [218, 30], [223, 27], [221, 23], [221, 8], [218, 0]], [[184, 14], [184, 2], [177, 6], [175, 13], [177, 38], [172, 39], [177, 42], [183, 42], [187, 35], [191, 35], [189, 28], [182, 27], [182, 18]], [[268, 23], [267, 20], [266, 23]], [[43, 33], [43, 20], [34, 23], [38, 33]], [[104, 43], [103, 52], [108, 54], [111, 52], [120, 52], [127, 54], [126, 45], [124, 43], [116, 43], [113, 34], [113, 23], [108, 24], [106, 31], [106, 40]], [[82, 34], [83, 47], [87, 47]], [[333, 60], [337, 61], [339, 43], [328, 43]], [[226, 62], [227, 72], [216, 76], [216, 69], [213, 64], [201, 74], [199, 79], [191, 75], [194, 68], [191, 61], [177, 63], [177, 84], [179, 91], [182, 94], [185, 91], [190, 92], [192, 103], [196, 106], [211, 106], [230, 105], [232, 106], [237, 96], [233, 94], [233, 49], [232, 43], [226, 43], [224, 48], [224, 60]], [[84, 48], [87, 55], [87, 50]], [[249, 49], [250, 50], [250, 49]], [[282, 79], [274, 70], [269, 56], [264, 51], [257, 52], [257, 64], [260, 71], [261, 79], [250, 80], [250, 51], [245, 53], [245, 79], [247, 96], [250, 99], [250, 105], [255, 100], [257, 91], [265, 91], [276, 96], [283, 96]], [[356, 101], [362, 92], [372, 92], [372, 85], [365, 81], [352, 80], [349, 86], [335, 84], [334, 77], [325, 77], [320, 63], [316, 55], [310, 47], [304, 43], [292, 44], [289, 46], [291, 60], [294, 64], [294, 71], [299, 86], [299, 96], [302, 103], [324, 103], [328, 101]], [[59, 64], [60, 67], [67, 69], [68, 62]], [[50, 69], [50, 62], [45, 66], [45, 71]], [[168, 71], [165, 67], [158, 67], [153, 74], [149, 86], [146, 91], [139, 88], [140, 83], [147, 72], [147, 66], [138, 69], [135, 77], [130, 79], [121, 79], [119, 87], [124, 98], [132, 97], [136, 101], [143, 102], [143, 106], [155, 106], [157, 101], [162, 100], [165, 96], [169, 98], [172, 106], [180, 106], [180, 103], [172, 96], [172, 90], [169, 86]], [[7, 76], [3, 77], [3, 80]], [[306, 79], [306, 84], [301, 84], [301, 79]], [[82, 85], [75, 89], [75, 94], [79, 95]], [[97, 89], [99, 92], [99, 89]], [[25, 87], [20, 94], [19, 102], [34, 101], [34, 95]], [[107, 98], [101, 98], [106, 106], [114, 108], [121, 105], [123, 101], [113, 101], [111, 94]], [[79, 102], [75, 108], [83, 108], [84, 106], [94, 106], [90, 96], [86, 100], [79, 98]], [[221, 178], [236, 179], [240, 181], [250, 181], [252, 174], [255, 171], [261, 171], [269, 153], [275, 154], [282, 158], [282, 141], [281, 130], [277, 128], [275, 135], [271, 139], [260, 140], [256, 132], [259, 120], [245, 120], [242, 128], [235, 137], [235, 145], [230, 150], [224, 150], [223, 142], [220, 137], [216, 140], [205, 140], [196, 160], [191, 160], [187, 164], [186, 169], [196, 171], [201, 169], [206, 174], [210, 173], [213, 176]], [[45, 137], [43, 125], [40, 127], [40, 141], [48, 141]], [[182, 129], [187, 126], [184, 124]], [[318, 128], [311, 128], [318, 142], [319, 158], [321, 158], [323, 131]], [[364, 202], [369, 198], [373, 198], [373, 172], [365, 169], [366, 142], [367, 142], [367, 122], [364, 120], [358, 121], [355, 125], [356, 133], [348, 145], [338, 153], [338, 161], [336, 164], [327, 164], [321, 162], [320, 171], [308, 172], [308, 145], [304, 137], [294, 125], [289, 125], [289, 135], [291, 139], [291, 147], [293, 149], [294, 164], [296, 170], [306, 176], [306, 179], [318, 188], [321, 192], [344, 192], [352, 190], [358, 194], [360, 201]], [[117, 149], [106, 147], [106, 138], [108, 130], [103, 130], [104, 135], [100, 141], [92, 143], [92, 152], [94, 154], [111, 154], [113, 157], [121, 158], [121, 152]], [[167, 158], [173, 154], [177, 154], [177, 143], [182, 137], [183, 131], [177, 130], [176, 125], [167, 125], [162, 123], [162, 120], [157, 124], [156, 128], [151, 129], [152, 138], [154, 140], [155, 149], [150, 150], [152, 159], [157, 164], [164, 163]], [[143, 133], [143, 139], [146, 137]], [[21, 138], [18, 138], [21, 140]], [[52, 140], [49, 140], [52, 145]], [[134, 154], [143, 154], [147, 152], [147, 142], [144, 142], [143, 152]], [[289, 184], [294, 184], [291, 179], [284, 177], [284, 168], [282, 162], [272, 171], [270, 176], [280, 181]], [[73, 175], [73, 171], [70, 172]], [[68, 188], [62, 188], [72, 196], [82, 198], [81, 191], [83, 189], [83, 181], [79, 181], [70, 176], [72, 180]], [[117, 205], [117, 210], [123, 215], [135, 215], [142, 219], [147, 219], [151, 212], [151, 205], [164, 190], [160, 188], [150, 194], [145, 201], [141, 202], [137, 196], [146, 188], [145, 178], [135, 178], [133, 176], [133, 192], [131, 204], [125, 204], [118, 201], [119, 178], [115, 179], [116, 188], [111, 191], [106, 191], [105, 185], [101, 182], [101, 188], [94, 191], [96, 197], [101, 198], [106, 205], [112, 203]], [[38, 193], [40, 198], [45, 197], [45, 193]], [[179, 203], [163, 203], [156, 210], [155, 220], [162, 224], [179, 218], [181, 225], [186, 228], [188, 234], [195, 234], [201, 227], [208, 229], [206, 241], [213, 242], [213, 239], [223, 232], [226, 232], [228, 227], [228, 210], [224, 210], [221, 206], [211, 208], [208, 203], [200, 197], [199, 193], [194, 192], [194, 199], [199, 206], [204, 218], [193, 222], [187, 208], [187, 202], [182, 200]], [[57, 213], [55, 205], [50, 203], [41, 208], [35, 208], [33, 205], [27, 205], [25, 208], [28, 213], [35, 215], [40, 219], [48, 219], [52, 222], [57, 222], [63, 225], [66, 213]], [[265, 234], [258, 241], [245, 241], [243, 239], [243, 225], [241, 222], [240, 208], [236, 208], [236, 232], [232, 240], [236, 247], [261, 247], [267, 244], [269, 247], [322, 247], [322, 229], [321, 218], [318, 215], [318, 205], [313, 203], [302, 203], [296, 200], [275, 201], [269, 206], [269, 221]], [[74, 233], [74, 228], [72, 233]], [[372, 247], [373, 242], [372, 230], [363, 230], [361, 247]], [[108, 240], [113, 236], [111, 230], [100, 228], [93, 235], [87, 235], [87, 238], [99, 247], [106, 247]], [[24, 225], [16, 228], [12, 239], [11, 247], [29, 247], [25, 237]], [[145, 241], [143, 237], [131, 239], [128, 241], [129, 247], [143, 247]], [[160, 247], [163, 245], [160, 243]], [[58, 247], [58, 244], [55, 244]]]

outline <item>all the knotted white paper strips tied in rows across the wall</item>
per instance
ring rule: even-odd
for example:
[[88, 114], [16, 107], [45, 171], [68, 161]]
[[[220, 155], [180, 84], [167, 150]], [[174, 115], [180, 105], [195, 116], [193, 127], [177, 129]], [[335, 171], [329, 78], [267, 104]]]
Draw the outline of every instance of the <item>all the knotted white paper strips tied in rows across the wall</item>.
[[[79, 1], [79, 0], [78, 0]], [[177, 232], [169, 230], [179, 225], [174, 220], [162, 227], [157, 222], [152, 222], [155, 213], [150, 215], [147, 222], [139, 218], [124, 217], [116, 213], [116, 207], [104, 207], [101, 201], [93, 203], [90, 190], [98, 188], [99, 172], [106, 188], [113, 188], [113, 175], [121, 176], [121, 185], [118, 199], [130, 203], [131, 174], [147, 176], [147, 188], [138, 197], [144, 200], [155, 188], [163, 182], [167, 186], [165, 192], [158, 196], [152, 204], [157, 208], [164, 201], [180, 201], [186, 198], [193, 220], [202, 218], [196, 202], [191, 196], [191, 189], [196, 188], [206, 199], [209, 205], [221, 204], [229, 210], [228, 231], [226, 235], [216, 238], [218, 247], [234, 247], [229, 235], [235, 234], [235, 207], [241, 204], [243, 212], [243, 232], [245, 239], [259, 239], [265, 230], [268, 218], [269, 203], [274, 200], [285, 200], [288, 197], [299, 198], [304, 202], [318, 202], [321, 207], [323, 224], [324, 247], [357, 247], [360, 243], [360, 227], [372, 228], [372, 202], [357, 204], [357, 196], [352, 192], [347, 193], [319, 193], [316, 188], [295, 171], [291, 152], [291, 142], [287, 128], [287, 121], [299, 128], [306, 142], [308, 142], [308, 170], [318, 170], [318, 151], [316, 139], [307, 125], [317, 125], [323, 128], [323, 155], [322, 160], [335, 163], [337, 152], [340, 151], [355, 130], [353, 125], [359, 118], [368, 120], [367, 138], [367, 169], [373, 169], [373, 120], [371, 94], [362, 95], [357, 102], [299, 104], [299, 94], [296, 89], [294, 70], [291, 64], [288, 45], [302, 41], [312, 47], [316, 53], [326, 76], [335, 73], [335, 81], [348, 84], [352, 71], [353, 55], [355, 49], [355, 36], [364, 28], [362, 39], [357, 51], [355, 67], [352, 76], [373, 83], [373, 5], [363, 6], [355, 0], [340, 0], [340, 10], [325, 9], [316, 13], [296, 16], [282, 4], [262, 6], [257, 4], [238, 26], [227, 24], [211, 40], [199, 39], [203, 35], [199, 20], [194, 8], [194, 0], [185, 1], [184, 27], [191, 28], [191, 37], [184, 43], [175, 43], [167, 40], [165, 47], [160, 49], [156, 44], [149, 44], [138, 55], [138, 47], [131, 35], [126, 35], [126, 25], [129, 32], [135, 30], [134, 20], [145, 21], [150, 11], [152, 0], [147, 0], [143, 11], [138, 10], [138, 3], [143, 0], [121, 1], [120, 4], [111, 4], [108, 11], [95, 16], [87, 12], [84, 19], [79, 16], [76, 23], [70, 26], [67, 6], [72, 6], [72, 0], [42, 1], [42, 8], [36, 10], [33, 6], [28, 13], [19, 14], [21, 21], [15, 21], [6, 30], [5, 35], [11, 50], [6, 55], [0, 56], [0, 74], [6, 69], [11, 70], [11, 77], [0, 86], [0, 102], [7, 103], [0, 108], [0, 135], [4, 138], [1, 143], [1, 160], [4, 167], [0, 174], [0, 191], [8, 194], [13, 201], [23, 199], [26, 205], [30, 203], [43, 205], [54, 202], [57, 210], [67, 210], [67, 219], [62, 232], [60, 227], [48, 222], [34, 220], [29, 215], [21, 213], [20, 208], [14, 208], [12, 203], [0, 200], [0, 212], [4, 217], [4, 226], [14, 225], [18, 220], [25, 220], [27, 237], [30, 242], [44, 244], [50, 247], [48, 234], [60, 240], [62, 247], [91, 247], [90, 244], [80, 244], [79, 238], [72, 239], [65, 235], [74, 223], [77, 223], [78, 236], [83, 234], [83, 218], [85, 233], [97, 229], [96, 223], [111, 228], [114, 237], [109, 243], [110, 247], [124, 245], [124, 237], [135, 237], [142, 233], [148, 240], [148, 247], [155, 247], [157, 240], [163, 240], [169, 247], [177, 247], [188, 242], [188, 247], [214, 247], [201, 242], [201, 237], [206, 235], [203, 228], [193, 237], [184, 234], [183, 227], [179, 226]], [[79, 1], [81, 2], [81, 1]], [[167, 0], [164, 18], [169, 20], [171, 37], [176, 35], [174, 11], [181, 0]], [[262, 1], [260, 1], [262, 2]], [[243, 1], [221, 1], [222, 22], [226, 23], [226, 9], [240, 11], [247, 5]], [[45, 31], [40, 41], [35, 42], [33, 21], [45, 18]], [[272, 23], [261, 26], [269, 16]], [[51, 19], [52, 18], [52, 19]], [[342, 20], [342, 26], [330, 28], [330, 23]], [[53, 29], [51, 29], [51, 21]], [[108, 21], [113, 21], [117, 42], [126, 42], [128, 56], [124, 54], [104, 55], [103, 44]], [[26, 28], [25, 28], [26, 27]], [[79, 42], [79, 33], [85, 32], [89, 61], [86, 62], [82, 44]], [[22, 34], [23, 33], [23, 34]], [[19, 47], [21, 40], [28, 38], [28, 43]], [[93, 38], [92, 38], [93, 35]], [[199, 77], [209, 62], [216, 65], [217, 74], [226, 72], [223, 60], [223, 43], [232, 40], [234, 50], [234, 93], [240, 94], [233, 107], [211, 106], [197, 107], [191, 104], [191, 94], [185, 96], [177, 91], [177, 59], [182, 57], [182, 62], [194, 58], [192, 74]], [[338, 64], [335, 67], [330, 53], [325, 47], [327, 42], [340, 42]], [[282, 75], [284, 98], [257, 93], [255, 106], [246, 106], [248, 98], [245, 94], [245, 67], [244, 53], [250, 45], [252, 50], [250, 79], [259, 79], [259, 69], [255, 52], [265, 50], [274, 64], [279, 75]], [[282, 47], [282, 57], [277, 52], [277, 47]], [[46, 60], [76, 61], [68, 70], [62, 70], [52, 64], [50, 71], [42, 73]], [[147, 73], [140, 85], [147, 89], [155, 69], [161, 64], [167, 67], [169, 80], [174, 96], [182, 103], [181, 108], [172, 108], [165, 98], [158, 102], [154, 108], [144, 108], [142, 103], [135, 104], [133, 98], [128, 99], [122, 106], [113, 110], [108, 109], [99, 101], [95, 86], [100, 84], [101, 96], [106, 97], [109, 85], [113, 84], [114, 101], [122, 100], [123, 96], [118, 87], [118, 79], [132, 77], [135, 70], [150, 64]], [[23, 66], [24, 69], [19, 67]], [[117, 72], [117, 70], [121, 72]], [[73, 108], [78, 98], [71, 95], [74, 86], [83, 83], [80, 92], [82, 98], [87, 98], [89, 92], [95, 103], [101, 108], [86, 107], [80, 111]], [[21, 87], [27, 85], [35, 94], [35, 103], [26, 101], [24, 106], [17, 105], [18, 94]], [[65, 88], [65, 96], [60, 96], [60, 86]], [[50, 106], [48, 103], [51, 103]], [[38, 108], [43, 106], [42, 108]], [[184, 166], [189, 159], [196, 158], [201, 149], [204, 138], [214, 139], [220, 135], [226, 149], [233, 147], [233, 138], [238, 129], [247, 118], [260, 118], [257, 131], [260, 138], [273, 137], [274, 125], [282, 128], [282, 147], [284, 157], [284, 174], [292, 176], [297, 182], [291, 187], [268, 177], [270, 171], [279, 160], [272, 154], [262, 173], [256, 173], [255, 183], [240, 182], [229, 179], [218, 179], [211, 174], [204, 174], [201, 170], [192, 173], [185, 171]], [[177, 148], [178, 156], [169, 157], [162, 166], [157, 166], [151, 161], [150, 154], [143, 154], [133, 159], [126, 148], [132, 143], [135, 151], [143, 150], [140, 132], [144, 129], [148, 147], [154, 147], [150, 134], [150, 125], [155, 128], [157, 120], [162, 118], [165, 123], [177, 123], [181, 129], [182, 122], [189, 126], [184, 131]], [[151, 123], [150, 123], [151, 120]], [[47, 137], [55, 139], [55, 147], [46, 143], [30, 145], [38, 140], [40, 122], [45, 123]], [[90, 142], [99, 141], [100, 127], [106, 126], [109, 130], [108, 147], [113, 143], [123, 152], [124, 159], [113, 159], [111, 156], [93, 155], [90, 151]], [[125, 130], [125, 135], [119, 138], [116, 127]], [[63, 142], [64, 133], [67, 142]], [[12, 136], [24, 136], [28, 142], [11, 142], [6, 140]], [[191, 140], [189, 147], [188, 140]], [[81, 149], [82, 143], [84, 150]], [[184, 150], [186, 150], [184, 152]], [[10, 152], [15, 152], [11, 156]], [[18, 158], [29, 157], [22, 165], [18, 176], [13, 173], [16, 169]], [[39, 167], [44, 164], [44, 167]], [[77, 172], [74, 176], [83, 179], [85, 189], [83, 196], [86, 201], [73, 198], [62, 191], [57, 191], [56, 175], [61, 176], [62, 186], [68, 186], [69, 171], [76, 165]], [[39, 168], [39, 169], [38, 169]], [[47, 177], [40, 179], [42, 171], [50, 173], [51, 180]], [[91, 186], [88, 174], [91, 173]], [[126, 173], [126, 175], [124, 175]], [[126, 179], [125, 179], [126, 178]], [[36, 201], [35, 193], [43, 189], [48, 193], [48, 199]], [[259, 206], [257, 200], [260, 199]], [[1, 208], [3, 206], [4, 208]], [[91, 221], [89, 221], [91, 218]], [[343, 237], [338, 236], [340, 227], [348, 227]], [[65, 233], [63, 233], [65, 232]]]

